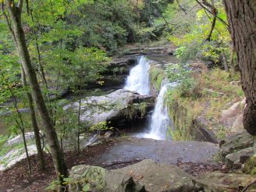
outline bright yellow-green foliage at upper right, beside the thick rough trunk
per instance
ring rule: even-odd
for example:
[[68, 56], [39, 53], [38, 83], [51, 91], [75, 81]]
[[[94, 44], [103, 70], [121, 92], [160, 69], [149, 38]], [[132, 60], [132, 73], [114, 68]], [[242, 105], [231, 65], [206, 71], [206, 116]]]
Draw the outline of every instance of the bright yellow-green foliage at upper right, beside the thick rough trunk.
[[207, 39], [213, 16], [196, 1], [180, 1], [183, 10], [176, 3], [170, 4], [166, 9], [165, 15], [169, 16], [172, 23], [169, 40], [179, 47], [175, 54], [182, 62], [197, 57], [219, 64], [222, 62], [222, 54], [229, 55], [230, 35], [226, 25], [226, 12], [222, 1], [216, 0], [214, 3], [218, 9], [218, 19], [210, 41]]

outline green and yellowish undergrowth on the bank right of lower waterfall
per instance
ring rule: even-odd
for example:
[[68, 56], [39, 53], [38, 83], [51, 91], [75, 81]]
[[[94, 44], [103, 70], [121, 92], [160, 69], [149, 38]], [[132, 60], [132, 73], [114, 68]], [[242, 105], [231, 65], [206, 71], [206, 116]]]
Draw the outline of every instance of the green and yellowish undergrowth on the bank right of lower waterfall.
[[213, 130], [219, 139], [229, 133], [229, 129], [222, 123], [221, 113], [226, 109], [226, 104], [244, 98], [242, 87], [230, 84], [231, 81], [240, 79], [238, 73], [230, 76], [221, 69], [202, 69], [201, 73], [194, 73], [182, 65], [172, 64], [167, 69], [167, 76], [169, 80], [178, 82], [177, 87], [172, 88], [165, 96], [169, 114], [173, 117], [175, 110], [182, 111], [180, 108], [183, 108], [180, 118], [186, 118], [182, 127], [180, 120], [174, 122], [176, 128], [180, 126], [179, 129], [182, 129], [177, 136], [179, 139], [189, 139], [187, 132], [193, 119], [198, 116], [203, 116], [207, 120], [208, 130]]

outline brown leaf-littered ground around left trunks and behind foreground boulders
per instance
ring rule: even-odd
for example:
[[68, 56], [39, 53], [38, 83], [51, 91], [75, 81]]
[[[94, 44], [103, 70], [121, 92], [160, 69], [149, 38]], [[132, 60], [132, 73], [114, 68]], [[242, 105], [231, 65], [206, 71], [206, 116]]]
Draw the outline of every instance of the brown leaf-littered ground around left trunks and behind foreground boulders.
[[[116, 144], [116, 139], [108, 140], [104, 143], [91, 146], [80, 151], [80, 154], [66, 152], [66, 164], [68, 169], [74, 165], [98, 165], [106, 169], [119, 169], [127, 165], [139, 162], [142, 159], [134, 158], [129, 161], [105, 163], [101, 160], [101, 155]], [[27, 161], [24, 159], [16, 163], [12, 168], [0, 172], [0, 192], [7, 191], [45, 191], [52, 180], [55, 180], [55, 169], [50, 155], [45, 154], [46, 170], [39, 169], [37, 164], [37, 155], [30, 157], [32, 163], [32, 174], [28, 174]], [[176, 165], [188, 172], [190, 175], [198, 176], [205, 172], [221, 170], [222, 165], [212, 163], [181, 162], [177, 160]]]

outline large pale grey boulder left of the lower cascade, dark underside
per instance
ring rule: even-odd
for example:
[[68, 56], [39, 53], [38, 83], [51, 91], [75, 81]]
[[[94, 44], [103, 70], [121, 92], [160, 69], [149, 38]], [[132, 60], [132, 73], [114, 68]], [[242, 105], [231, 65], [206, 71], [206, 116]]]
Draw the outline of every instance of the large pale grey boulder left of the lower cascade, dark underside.
[[[120, 89], [103, 96], [83, 98], [80, 120], [95, 125], [104, 121], [136, 119], [146, 115], [153, 105], [154, 100], [151, 96]], [[65, 110], [70, 108], [77, 111], [79, 102], [64, 107]]]

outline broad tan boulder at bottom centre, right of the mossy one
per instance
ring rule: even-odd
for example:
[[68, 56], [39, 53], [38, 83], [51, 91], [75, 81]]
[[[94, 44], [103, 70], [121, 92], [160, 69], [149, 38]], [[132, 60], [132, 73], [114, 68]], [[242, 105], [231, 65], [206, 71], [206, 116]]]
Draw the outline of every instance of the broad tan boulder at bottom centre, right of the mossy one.
[[135, 183], [146, 191], [196, 191], [193, 177], [176, 165], [167, 165], [146, 159], [142, 162], [116, 169], [113, 172], [130, 174]]

